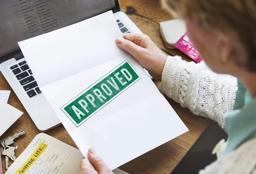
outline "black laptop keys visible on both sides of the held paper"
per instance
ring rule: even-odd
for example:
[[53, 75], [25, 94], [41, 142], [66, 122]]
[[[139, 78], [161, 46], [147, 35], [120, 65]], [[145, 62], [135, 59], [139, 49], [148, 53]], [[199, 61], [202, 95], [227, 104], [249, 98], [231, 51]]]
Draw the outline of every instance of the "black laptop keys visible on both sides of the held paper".
[[[116, 22], [122, 33], [131, 33], [120, 20], [116, 20]], [[10, 69], [17, 80], [19, 80], [20, 85], [23, 87], [23, 90], [26, 92], [29, 98], [35, 97], [42, 93], [26, 61], [17, 63], [11, 66]]]

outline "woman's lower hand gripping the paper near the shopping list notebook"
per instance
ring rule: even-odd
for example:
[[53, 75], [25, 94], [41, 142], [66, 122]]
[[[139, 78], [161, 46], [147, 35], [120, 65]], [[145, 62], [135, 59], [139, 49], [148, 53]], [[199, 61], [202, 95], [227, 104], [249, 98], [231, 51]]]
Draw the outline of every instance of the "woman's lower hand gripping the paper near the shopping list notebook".
[[91, 164], [83, 158], [80, 164], [79, 174], [114, 174], [93, 148], [90, 148], [88, 151], [88, 159]]

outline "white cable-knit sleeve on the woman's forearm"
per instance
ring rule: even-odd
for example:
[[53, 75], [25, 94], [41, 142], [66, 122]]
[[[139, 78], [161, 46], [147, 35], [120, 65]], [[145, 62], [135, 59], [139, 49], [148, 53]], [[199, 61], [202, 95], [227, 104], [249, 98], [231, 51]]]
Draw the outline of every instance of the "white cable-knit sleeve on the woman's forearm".
[[163, 69], [161, 91], [193, 114], [210, 118], [225, 129], [223, 114], [233, 109], [237, 79], [215, 74], [206, 64], [168, 57]]

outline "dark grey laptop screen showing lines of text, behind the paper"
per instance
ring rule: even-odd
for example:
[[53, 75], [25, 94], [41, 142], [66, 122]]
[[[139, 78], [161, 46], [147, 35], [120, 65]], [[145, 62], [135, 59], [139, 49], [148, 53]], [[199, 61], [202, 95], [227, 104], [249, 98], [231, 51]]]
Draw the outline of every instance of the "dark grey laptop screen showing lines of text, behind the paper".
[[0, 56], [16, 50], [19, 41], [60, 29], [116, 5], [115, 0], [0, 0]]

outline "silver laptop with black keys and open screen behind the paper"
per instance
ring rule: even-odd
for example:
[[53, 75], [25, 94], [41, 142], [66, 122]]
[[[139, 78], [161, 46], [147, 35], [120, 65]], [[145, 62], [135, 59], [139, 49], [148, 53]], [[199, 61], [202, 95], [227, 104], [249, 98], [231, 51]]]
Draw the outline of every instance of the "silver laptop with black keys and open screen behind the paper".
[[38, 88], [33, 72], [17, 42], [109, 10], [113, 11], [122, 33], [142, 33], [131, 19], [120, 11], [118, 0], [0, 1], [0, 71], [39, 131], [48, 131], [61, 122]]

